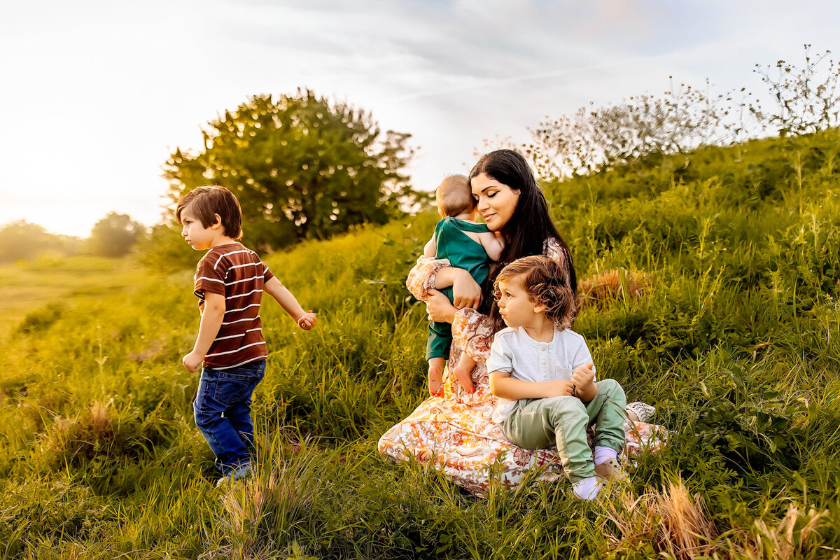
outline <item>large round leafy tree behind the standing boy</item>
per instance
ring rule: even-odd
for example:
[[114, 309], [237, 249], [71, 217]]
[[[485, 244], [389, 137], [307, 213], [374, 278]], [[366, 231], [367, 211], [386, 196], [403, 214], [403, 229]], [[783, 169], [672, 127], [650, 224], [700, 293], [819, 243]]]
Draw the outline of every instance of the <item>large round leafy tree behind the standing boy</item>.
[[381, 133], [370, 113], [310, 91], [250, 97], [208, 123], [204, 149], [165, 162], [171, 196], [225, 186], [239, 198], [248, 243], [260, 249], [384, 223], [416, 200], [402, 168], [406, 133]]

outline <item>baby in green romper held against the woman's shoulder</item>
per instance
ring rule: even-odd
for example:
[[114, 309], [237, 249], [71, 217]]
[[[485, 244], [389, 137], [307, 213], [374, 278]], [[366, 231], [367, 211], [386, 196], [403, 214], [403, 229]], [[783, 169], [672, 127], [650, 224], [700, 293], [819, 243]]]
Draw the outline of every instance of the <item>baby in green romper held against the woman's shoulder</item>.
[[[449, 175], [438, 186], [438, 213], [443, 219], [434, 228], [432, 238], [426, 243], [423, 255], [436, 259], [449, 259], [455, 268], [466, 270], [479, 285], [487, 279], [491, 260], [498, 260], [504, 242], [483, 223], [475, 222], [477, 210], [470, 190], [470, 181], [464, 175]], [[440, 290], [452, 301], [452, 288]], [[438, 395], [444, 382], [444, 360], [449, 359], [452, 346], [452, 326], [448, 322], [429, 322], [426, 359], [428, 360], [428, 390]], [[464, 389], [473, 392], [470, 373], [475, 362], [461, 354], [454, 369], [455, 377]]]

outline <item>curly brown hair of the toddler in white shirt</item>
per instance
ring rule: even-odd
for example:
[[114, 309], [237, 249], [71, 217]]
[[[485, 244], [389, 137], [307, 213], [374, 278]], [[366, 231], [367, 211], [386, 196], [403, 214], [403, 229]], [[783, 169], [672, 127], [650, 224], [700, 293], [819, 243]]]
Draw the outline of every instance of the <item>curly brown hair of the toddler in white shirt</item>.
[[509, 282], [518, 278], [528, 298], [545, 306], [545, 317], [554, 323], [554, 328], [571, 328], [575, 321], [577, 305], [569, 286], [563, 283], [563, 269], [554, 260], [541, 254], [516, 259], [507, 264], [496, 276], [493, 284], [493, 296], [496, 301], [501, 297], [499, 282]]

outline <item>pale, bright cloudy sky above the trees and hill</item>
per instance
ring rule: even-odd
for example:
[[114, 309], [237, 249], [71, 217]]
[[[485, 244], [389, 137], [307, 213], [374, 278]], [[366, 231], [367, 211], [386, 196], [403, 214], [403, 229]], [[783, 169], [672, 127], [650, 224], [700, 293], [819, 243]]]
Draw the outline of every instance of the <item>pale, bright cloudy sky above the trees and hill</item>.
[[840, 53], [814, 0], [3, 0], [0, 226], [87, 237], [163, 217], [161, 165], [260, 93], [316, 94], [412, 134], [412, 184], [496, 139], [677, 82], [760, 90], [756, 64]]

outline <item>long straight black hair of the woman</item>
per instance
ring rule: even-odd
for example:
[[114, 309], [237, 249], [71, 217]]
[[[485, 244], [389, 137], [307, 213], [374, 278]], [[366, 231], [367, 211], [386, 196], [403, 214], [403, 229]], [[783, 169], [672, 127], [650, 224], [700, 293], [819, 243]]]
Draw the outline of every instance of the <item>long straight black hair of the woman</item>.
[[496, 276], [506, 264], [522, 257], [543, 254], [545, 240], [555, 238], [564, 252], [565, 261], [569, 267], [569, 287], [573, 294], [577, 292], [577, 275], [575, 275], [575, 265], [572, 264], [569, 247], [560, 236], [557, 227], [554, 226], [549, 212], [549, 203], [545, 200], [543, 191], [539, 190], [537, 180], [534, 179], [525, 158], [512, 149], [497, 149], [495, 152], [481, 156], [470, 171], [470, 181], [482, 173], [494, 181], [511, 187], [514, 191], [519, 191], [517, 207], [511, 219], [501, 228], [501, 233], [506, 239], [505, 249], [501, 252], [499, 261], [491, 264], [490, 274], [487, 276], [485, 285], [482, 286], [485, 297], [480, 311], [493, 317], [496, 330], [499, 330], [504, 322], [501, 321], [496, 303], [490, 296], [493, 293]]

